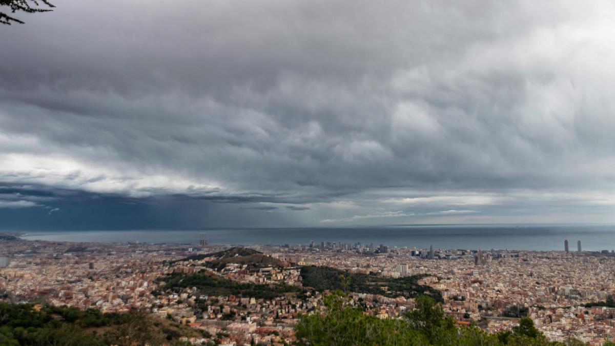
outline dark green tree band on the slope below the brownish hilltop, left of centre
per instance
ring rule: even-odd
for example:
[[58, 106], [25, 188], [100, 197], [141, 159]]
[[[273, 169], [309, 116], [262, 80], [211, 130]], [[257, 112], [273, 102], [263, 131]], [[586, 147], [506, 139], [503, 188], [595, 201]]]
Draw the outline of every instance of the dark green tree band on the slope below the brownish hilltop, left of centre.
[[286, 293], [301, 290], [296, 286], [284, 284], [239, 283], [207, 272], [196, 274], [171, 273], [160, 278], [159, 281], [165, 282], [162, 288], [163, 291], [180, 292], [185, 288], [196, 287], [200, 294], [207, 296], [229, 296], [232, 294], [234, 296], [254, 297], [256, 299], [273, 299], [284, 296]]

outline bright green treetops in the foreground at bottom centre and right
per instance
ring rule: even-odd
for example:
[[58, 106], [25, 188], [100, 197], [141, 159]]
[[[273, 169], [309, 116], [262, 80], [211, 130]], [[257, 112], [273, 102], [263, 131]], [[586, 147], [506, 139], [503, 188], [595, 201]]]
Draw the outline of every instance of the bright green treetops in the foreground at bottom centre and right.
[[[341, 291], [325, 297], [325, 307], [303, 315], [295, 327], [297, 345], [435, 345], [435, 346], [576, 346], [579, 340], [550, 342], [530, 318], [512, 331], [488, 334], [476, 326], [456, 326], [442, 306], [427, 296], [416, 298], [416, 309], [402, 318], [380, 319], [363, 313]], [[608, 346], [615, 346], [610, 342]]]

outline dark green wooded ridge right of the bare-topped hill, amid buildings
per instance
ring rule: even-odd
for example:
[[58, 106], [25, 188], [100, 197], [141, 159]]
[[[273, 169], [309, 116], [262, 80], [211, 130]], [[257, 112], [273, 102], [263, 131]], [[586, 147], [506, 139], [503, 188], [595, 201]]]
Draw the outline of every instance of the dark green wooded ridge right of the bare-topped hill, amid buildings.
[[[380, 294], [386, 297], [415, 297], [419, 294], [431, 296], [438, 302], [442, 301], [440, 292], [431, 286], [418, 284], [418, 280], [426, 275], [405, 276], [403, 278], [384, 278], [376, 275], [353, 274], [330, 267], [314, 265], [302, 267], [303, 286], [312, 287], [318, 291], [347, 289], [350, 292]], [[344, 282], [346, 278], [349, 282]], [[342, 279], [344, 278], [344, 280]]]

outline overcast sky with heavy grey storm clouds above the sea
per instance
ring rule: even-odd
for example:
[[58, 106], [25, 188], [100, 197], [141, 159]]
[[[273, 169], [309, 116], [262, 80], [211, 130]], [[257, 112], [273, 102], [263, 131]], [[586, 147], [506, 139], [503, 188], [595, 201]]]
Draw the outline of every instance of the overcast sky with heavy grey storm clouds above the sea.
[[0, 228], [615, 222], [612, 1], [53, 2]]

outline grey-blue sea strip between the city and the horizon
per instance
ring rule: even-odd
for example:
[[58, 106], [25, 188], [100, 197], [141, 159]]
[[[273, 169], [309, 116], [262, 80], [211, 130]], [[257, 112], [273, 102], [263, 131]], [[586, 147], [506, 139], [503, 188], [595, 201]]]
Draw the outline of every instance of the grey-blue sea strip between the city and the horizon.
[[361, 243], [424, 249], [515, 249], [570, 251], [615, 249], [615, 225], [397, 225], [343, 228], [215, 228], [204, 230], [45, 230], [23, 231], [23, 239], [103, 243], [315, 245]]

